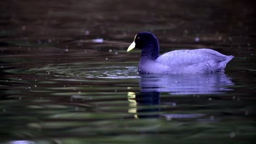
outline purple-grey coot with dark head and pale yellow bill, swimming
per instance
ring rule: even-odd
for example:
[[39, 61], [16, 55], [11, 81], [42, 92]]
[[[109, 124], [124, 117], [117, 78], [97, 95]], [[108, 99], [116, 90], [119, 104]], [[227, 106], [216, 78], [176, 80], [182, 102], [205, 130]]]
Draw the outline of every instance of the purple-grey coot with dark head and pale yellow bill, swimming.
[[205, 74], [223, 72], [234, 56], [225, 56], [211, 49], [174, 50], [159, 55], [159, 43], [154, 34], [135, 35], [127, 52], [141, 49], [139, 74]]

